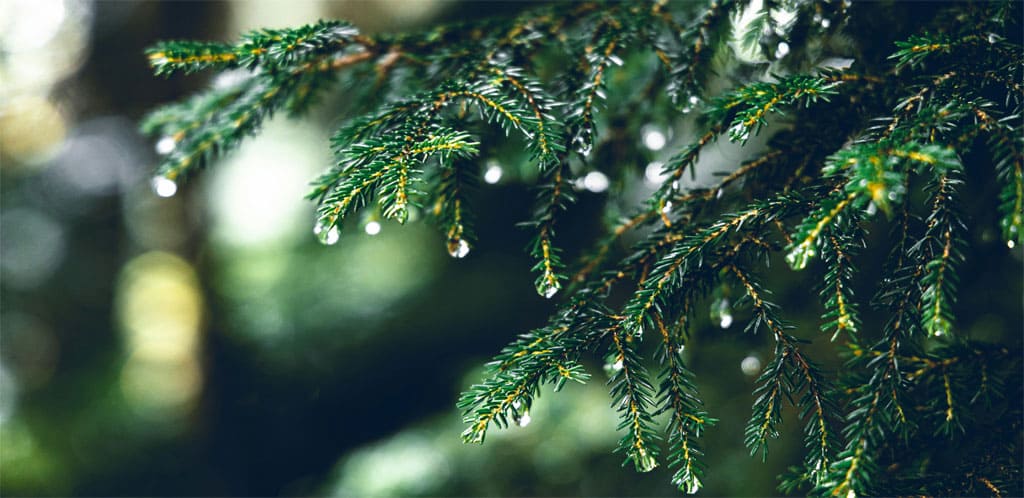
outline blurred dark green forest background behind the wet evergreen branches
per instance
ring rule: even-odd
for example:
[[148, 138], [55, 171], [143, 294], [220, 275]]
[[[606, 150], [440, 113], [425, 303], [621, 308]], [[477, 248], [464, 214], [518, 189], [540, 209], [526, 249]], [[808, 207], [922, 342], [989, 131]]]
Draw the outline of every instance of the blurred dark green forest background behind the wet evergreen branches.
[[[637, 474], [612, 454], [616, 419], [599, 356], [594, 379], [545, 392], [528, 426], [495, 430], [482, 447], [459, 438], [459, 392], [553, 309], [532, 290], [528, 234], [514, 227], [534, 196], [516, 165], [483, 158], [479, 242], [459, 260], [432, 227], [399, 229], [372, 213], [337, 246], [315, 242], [302, 197], [331, 162], [328, 138], [342, 119], [332, 109], [344, 102], [329, 99], [310, 119], [275, 118], [176, 193], [151, 188], [160, 144], [138, 134], [139, 118], [217, 83], [153, 77], [142, 50], [158, 40], [231, 40], [322, 17], [396, 31], [525, 6], [0, 2], [2, 493], [677, 495], [670, 470]], [[645, 130], [631, 167], [638, 181], [645, 172], [655, 181], [649, 163], [686, 133]], [[741, 159], [718, 148], [719, 163]], [[599, 234], [590, 213], [607, 188], [603, 174], [581, 175], [580, 204], [560, 224], [569, 254]], [[987, 226], [977, 238], [994, 262], [967, 264], [963, 325], [1005, 340], [1020, 331], [1011, 320], [1021, 282], [1004, 278], [1007, 264], [1020, 274], [1020, 254], [1000, 250]], [[814, 336], [816, 296], [774, 272], [787, 318]], [[742, 446], [770, 354], [765, 337], [740, 333], [744, 319], [719, 302], [687, 345], [721, 419], [705, 443], [707, 495], [769, 494], [800, 459], [792, 411], [767, 463]], [[817, 342], [816, 358], [837, 368], [827, 341]]]

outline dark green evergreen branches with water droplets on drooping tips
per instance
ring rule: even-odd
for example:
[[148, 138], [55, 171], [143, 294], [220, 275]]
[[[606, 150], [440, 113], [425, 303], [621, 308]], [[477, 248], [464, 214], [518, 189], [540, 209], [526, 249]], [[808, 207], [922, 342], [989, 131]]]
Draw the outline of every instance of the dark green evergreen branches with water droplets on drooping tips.
[[[985, 202], [963, 199], [966, 178], [998, 193], [1002, 242], [1024, 243], [1021, 4], [925, 5], [920, 20], [893, 24], [901, 38], [880, 44], [878, 19], [901, 8], [562, 3], [413, 34], [322, 22], [237, 43], [164, 42], [147, 52], [158, 75], [242, 76], [155, 111], [142, 128], [174, 141], [159, 174], [179, 181], [273, 113], [298, 115], [326, 89], [347, 88], [358, 116], [334, 135], [336, 164], [309, 194], [321, 240], [336, 242], [362, 209], [404, 223], [423, 208], [454, 257], [474, 245], [469, 193], [493, 130], [521, 142], [522, 177], [537, 185], [522, 223], [537, 291], [560, 301], [463, 395], [466, 442], [528, 421], [545, 385], [588, 381], [594, 352], [607, 361], [621, 415], [617, 451], [639, 471], [669, 465], [682, 491], [697, 492], [700, 438], [716, 419], [682, 351], [698, 305], [713, 298], [724, 320], [733, 292], [746, 332], [775, 345], [754, 391], [752, 455], [767, 455], [784, 405], [805, 427], [803, 465], [781, 490], [1020, 495], [1021, 385], [1006, 382], [1019, 350], [972, 340], [956, 309], [958, 271], [977, 243], [963, 206]], [[821, 64], [833, 53], [855, 60]], [[642, 116], [612, 132], [608, 116], [623, 110]], [[638, 171], [610, 151], [637, 151], [645, 120], [694, 112], [699, 131], [664, 162], [649, 198], [627, 216], [609, 203], [620, 219], [607, 236], [579, 260], [564, 257], [558, 221], [574, 178], [600, 170], [625, 191]], [[710, 144], [749, 146], [779, 124], [786, 129], [744, 148], [751, 159], [717, 183], [687, 184]], [[886, 226], [890, 236], [870, 240], [891, 255], [864, 302], [853, 291], [858, 255], [868, 232]], [[771, 301], [759, 274], [778, 254], [820, 276], [825, 335], [795, 330]], [[865, 327], [867, 316], [882, 325]], [[812, 338], [829, 336], [847, 359], [838, 374], [808, 352]]]

